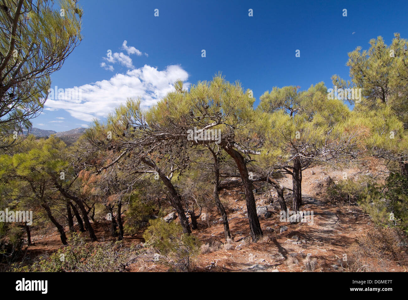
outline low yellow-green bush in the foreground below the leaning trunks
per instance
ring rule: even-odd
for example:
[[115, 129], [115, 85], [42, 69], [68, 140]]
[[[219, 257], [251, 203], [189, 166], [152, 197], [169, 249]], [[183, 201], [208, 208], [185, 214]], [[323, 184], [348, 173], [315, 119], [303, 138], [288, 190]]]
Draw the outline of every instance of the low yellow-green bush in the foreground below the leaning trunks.
[[190, 269], [191, 261], [200, 254], [200, 240], [182, 233], [181, 225], [176, 222], [166, 223], [162, 218], [151, 220], [143, 237], [148, 247], [174, 260], [177, 269]]

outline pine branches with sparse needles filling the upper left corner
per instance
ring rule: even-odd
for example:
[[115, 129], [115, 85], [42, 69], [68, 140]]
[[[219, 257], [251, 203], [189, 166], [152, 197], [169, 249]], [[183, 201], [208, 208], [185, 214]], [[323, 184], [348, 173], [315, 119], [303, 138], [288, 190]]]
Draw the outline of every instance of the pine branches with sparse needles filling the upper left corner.
[[30, 119], [47, 99], [50, 75], [82, 40], [78, 0], [55, 2], [2, 1], [0, 149], [22, 140], [13, 138], [13, 132], [32, 126]]

